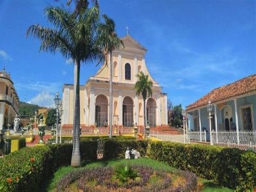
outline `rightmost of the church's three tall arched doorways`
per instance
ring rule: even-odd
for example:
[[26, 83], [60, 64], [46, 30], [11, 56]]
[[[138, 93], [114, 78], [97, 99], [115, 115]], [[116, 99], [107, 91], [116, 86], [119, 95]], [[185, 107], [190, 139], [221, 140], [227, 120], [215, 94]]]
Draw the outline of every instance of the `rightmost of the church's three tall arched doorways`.
[[149, 127], [156, 127], [156, 100], [147, 100], [147, 123]]

